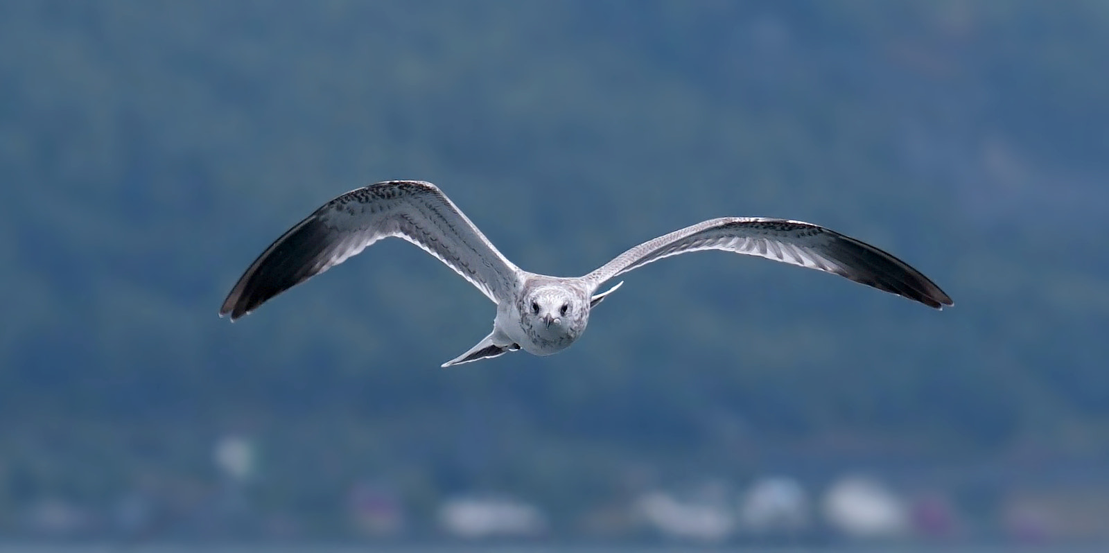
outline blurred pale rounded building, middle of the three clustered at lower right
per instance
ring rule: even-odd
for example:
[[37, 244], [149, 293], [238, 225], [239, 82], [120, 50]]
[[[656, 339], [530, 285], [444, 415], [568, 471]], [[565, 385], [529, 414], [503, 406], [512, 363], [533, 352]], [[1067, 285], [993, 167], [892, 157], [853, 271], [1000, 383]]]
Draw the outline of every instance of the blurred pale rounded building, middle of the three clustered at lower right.
[[794, 536], [812, 526], [812, 505], [800, 482], [786, 477], [756, 480], [740, 498], [740, 528], [757, 537]]

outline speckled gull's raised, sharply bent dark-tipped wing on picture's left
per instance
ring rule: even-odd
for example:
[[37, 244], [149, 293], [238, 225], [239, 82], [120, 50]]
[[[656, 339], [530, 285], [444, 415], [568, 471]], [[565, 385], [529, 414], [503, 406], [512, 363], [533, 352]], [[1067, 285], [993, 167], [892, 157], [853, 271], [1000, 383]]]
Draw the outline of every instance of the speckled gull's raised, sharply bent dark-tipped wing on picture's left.
[[439, 258], [494, 303], [509, 298], [518, 285], [516, 265], [438, 187], [387, 181], [332, 199], [277, 238], [232, 288], [220, 316], [235, 320], [389, 236]]

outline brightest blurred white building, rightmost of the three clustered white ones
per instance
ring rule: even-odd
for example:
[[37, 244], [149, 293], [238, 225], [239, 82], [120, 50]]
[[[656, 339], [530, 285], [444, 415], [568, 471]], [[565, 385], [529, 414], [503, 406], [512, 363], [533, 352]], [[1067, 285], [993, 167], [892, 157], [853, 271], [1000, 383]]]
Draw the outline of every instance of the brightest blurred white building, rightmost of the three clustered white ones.
[[822, 508], [828, 525], [847, 537], [888, 540], [908, 533], [905, 502], [874, 479], [840, 479], [828, 488]]

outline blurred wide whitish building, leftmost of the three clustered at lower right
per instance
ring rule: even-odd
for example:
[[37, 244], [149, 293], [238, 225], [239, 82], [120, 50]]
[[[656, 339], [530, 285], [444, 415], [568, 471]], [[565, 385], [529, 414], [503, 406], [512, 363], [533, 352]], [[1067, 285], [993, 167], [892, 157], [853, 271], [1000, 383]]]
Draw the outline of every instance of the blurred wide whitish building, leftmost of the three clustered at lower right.
[[678, 540], [721, 542], [735, 531], [735, 515], [720, 502], [681, 501], [652, 491], [632, 506], [637, 518], [660, 534]]

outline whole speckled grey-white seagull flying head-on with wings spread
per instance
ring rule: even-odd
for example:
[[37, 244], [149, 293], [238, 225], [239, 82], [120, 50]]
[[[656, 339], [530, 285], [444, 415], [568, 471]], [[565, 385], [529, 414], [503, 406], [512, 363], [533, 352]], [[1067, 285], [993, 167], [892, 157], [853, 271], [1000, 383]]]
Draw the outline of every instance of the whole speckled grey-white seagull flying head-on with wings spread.
[[375, 242], [404, 238], [454, 269], [497, 305], [492, 331], [444, 367], [520, 349], [557, 354], [586, 330], [609, 280], [688, 252], [720, 249], [832, 273], [935, 309], [955, 305], [905, 262], [849, 236], [800, 221], [721, 217], [644, 242], [580, 277], [523, 270], [509, 262], [437, 186], [385, 181], [332, 199], [277, 238], [243, 273], [220, 316], [235, 320], [274, 296], [357, 255]]

